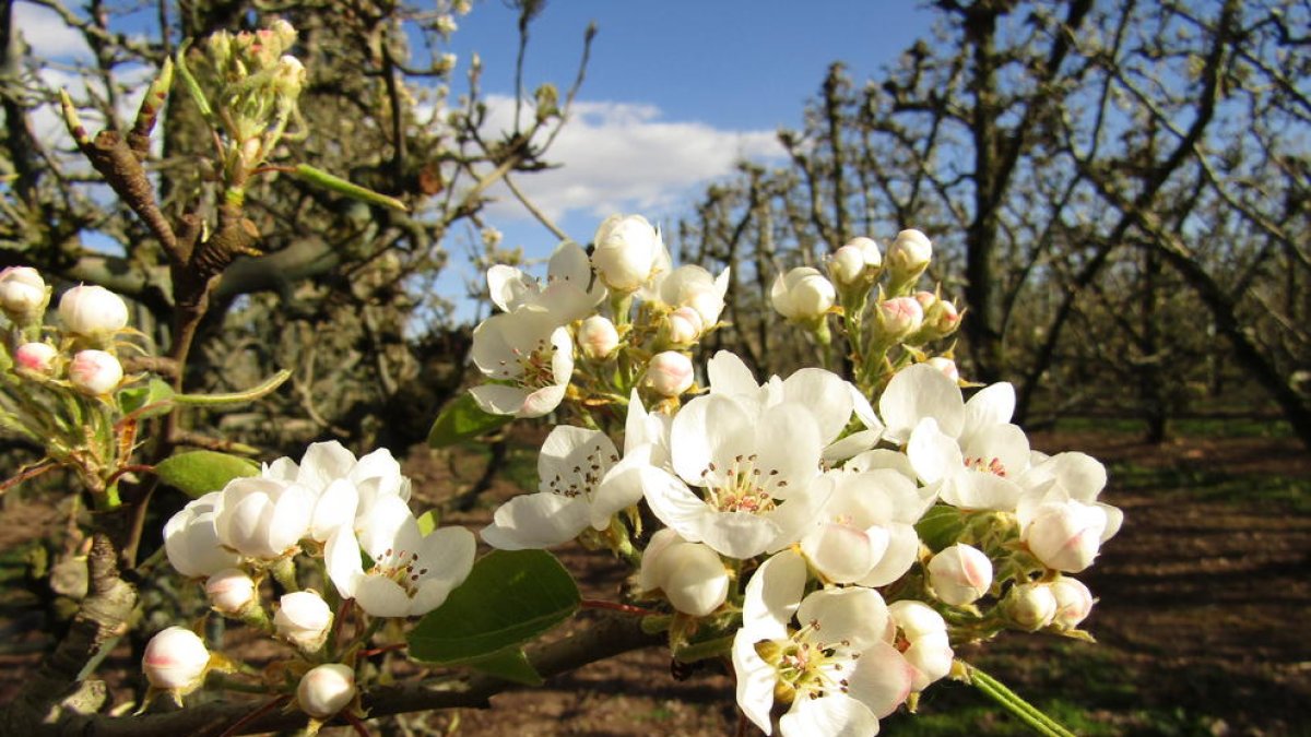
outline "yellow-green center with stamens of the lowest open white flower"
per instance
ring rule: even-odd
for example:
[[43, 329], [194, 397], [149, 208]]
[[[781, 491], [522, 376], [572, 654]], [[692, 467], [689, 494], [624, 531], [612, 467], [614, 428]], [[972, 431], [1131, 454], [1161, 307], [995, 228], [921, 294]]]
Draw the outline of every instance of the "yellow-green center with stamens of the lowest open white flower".
[[787, 703], [798, 698], [818, 699], [834, 691], [846, 694], [846, 673], [860, 658], [847, 640], [825, 641], [818, 620], [810, 620], [787, 640], [758, 644], [756, 652], [777, 674], [775, 698]]

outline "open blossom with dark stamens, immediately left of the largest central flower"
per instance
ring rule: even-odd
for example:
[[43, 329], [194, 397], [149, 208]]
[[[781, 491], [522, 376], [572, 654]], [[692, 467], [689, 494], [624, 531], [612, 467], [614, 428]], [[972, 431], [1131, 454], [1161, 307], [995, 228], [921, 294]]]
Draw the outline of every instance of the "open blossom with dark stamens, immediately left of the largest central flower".
[[620, 460], [604, 433], [560, 425], [538, 455], [538, 492], [501, 505], [482, 540], [501, 549], [549, 548], [587, 527], [604, 530], [611, 515], [641, 500], [638, 468], [649, 460], [641, 448]]

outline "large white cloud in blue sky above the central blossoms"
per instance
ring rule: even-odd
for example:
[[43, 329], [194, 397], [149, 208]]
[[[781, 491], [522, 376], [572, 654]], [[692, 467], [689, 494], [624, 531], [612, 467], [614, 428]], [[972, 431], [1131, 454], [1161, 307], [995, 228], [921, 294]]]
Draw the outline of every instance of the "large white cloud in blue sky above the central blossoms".
[[[488, 108], [490, 131], [510, 127], [514, 98], [489, 96]], [[572, 118], [545, 156], [562, 167], [520, 174], [515, 184], [555, 220], [573, 212], [598, 219], [611, 212], [653, 215], [682, 205], [709, 181], [732, 173], [743, 159], [781, 156], [783, 147], [770, 130], [663, 121], [653, 105], [576, 101]], [[490, 215], [528, 218], [506, 189], [494, 188], [492, 194], [499, 202], [489, 209]]]

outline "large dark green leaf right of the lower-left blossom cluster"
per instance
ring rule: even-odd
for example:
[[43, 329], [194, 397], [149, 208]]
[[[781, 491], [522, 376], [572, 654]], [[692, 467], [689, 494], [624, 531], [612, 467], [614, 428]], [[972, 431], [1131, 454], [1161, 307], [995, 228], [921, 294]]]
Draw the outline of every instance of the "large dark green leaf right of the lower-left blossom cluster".
[[493, 551], [410, 631], [409, 653], [438, 665], [509, 669], [505, 650], [569, 619], [581, 601], [573, 577], [553, 555]]

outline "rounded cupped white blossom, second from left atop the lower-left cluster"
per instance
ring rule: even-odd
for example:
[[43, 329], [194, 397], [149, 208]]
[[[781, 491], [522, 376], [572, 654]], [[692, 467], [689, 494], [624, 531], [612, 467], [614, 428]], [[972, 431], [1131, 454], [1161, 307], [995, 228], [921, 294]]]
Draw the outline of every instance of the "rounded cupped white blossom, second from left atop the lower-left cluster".
[[300, 484], [260, 476], [223, 488], [214, 525], [219, 542], [244, 556], [273, 560], [308, 535], [316, 496]]

